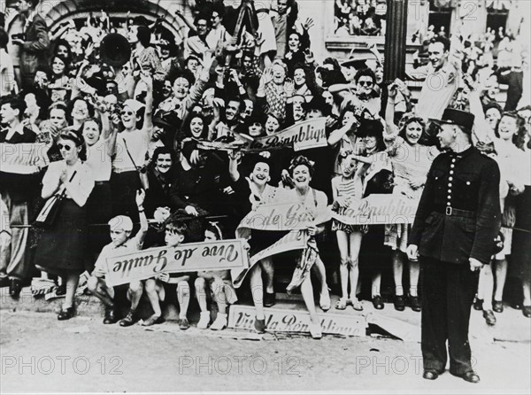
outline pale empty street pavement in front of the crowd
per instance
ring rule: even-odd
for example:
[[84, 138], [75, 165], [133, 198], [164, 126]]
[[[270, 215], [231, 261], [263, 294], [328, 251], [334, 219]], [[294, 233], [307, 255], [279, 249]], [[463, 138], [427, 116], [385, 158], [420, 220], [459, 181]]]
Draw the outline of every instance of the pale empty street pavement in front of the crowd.
[[[530, 321], [510, 308], [496, 314], [499, 329], [487, 328], [481, 313], [473, 311], [473, 364], [481, 383], [472, 384], [448, 371], [433, 382], [422, 379], [419, 343], [375, 332], [366, 337], [325, 335], [313, 340], [306, 334], [262, 336], [194, 326], [181, 331], [173, 321], [149, 329], [138, 324], [120, 328], [103, 325], [94, 306], [85, 306], [86, 314], [70, 321], [58, 321], [50, 311], [35, 311], [36, 303], [33, 311], [27, 311], [27, 303], [19, 303], [19, 308], [10, 303], [4, 299], [0, 303], [2, 393], [531, 392]], [[87, 299], [86, 303], [93, 302]], [[364, 306], [371, 308], [369, 302]], [[398, 313], [391, 305], [381, 315], [412, 326], [419, 322], [418, 313], [410, 309]], [[520, 340], [497, 341], [496, 330], [515, 332]]]

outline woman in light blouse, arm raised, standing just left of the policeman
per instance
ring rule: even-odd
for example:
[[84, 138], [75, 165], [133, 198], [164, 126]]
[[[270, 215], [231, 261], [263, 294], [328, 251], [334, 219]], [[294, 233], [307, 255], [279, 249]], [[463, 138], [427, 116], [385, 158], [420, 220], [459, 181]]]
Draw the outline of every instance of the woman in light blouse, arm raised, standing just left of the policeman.
[[[404, 114], [399, 128], [395, 125], [395, 99], [400, 90], [405, 86], [398, 83], [389, 85], [388, 104], [385, 112], [386, 133], [384, 141], [387, 145], [389, 159], [395, 174], [395, 186], [393, 195], [406, 197], [419, 201], [424, 190], [427, 172], [432, 161], [439, 154], [435, 147], [428, 147], [422, 143], [422, 136], [426, 132], [426, 123], [413, 113]], [[403, 96], [408, 96], [403, 93]], [[405, 299], [402, 286], [404, 262], [407, 259], [406, 251], [408, 235], [411, 225], [397, 223], [385, 226], [384, 245], [391, 247], [393, 251], [393, 276], [395, 279], [395, 309], [404, 311]], [[412, 310], [420, 311], [420, 299], [418, 294], [419, 262], [408, 261], [410, 292], [409, 301]]]

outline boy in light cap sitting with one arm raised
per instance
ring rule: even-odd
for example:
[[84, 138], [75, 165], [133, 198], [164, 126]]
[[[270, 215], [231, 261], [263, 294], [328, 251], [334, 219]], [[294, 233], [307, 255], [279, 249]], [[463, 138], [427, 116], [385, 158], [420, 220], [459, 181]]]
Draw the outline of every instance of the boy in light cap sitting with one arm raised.
[[[134, 237], [131, 237], [133, 230], [133, 221], [125, 215], [119, 215], [109, 221], [111, 227], [111, 240], [100, 252], [92, 275], [90, 275], [88, 288], [89, 291], [99, 298], [105, 305], [104, 324], [112, 324], [118, 321], [118, 314], [114, 304], [114, 289], [105, 283], [105, 274], [107, 267], [105, 259], [124, 255], [130, 252], [136, 252], [142, 249], [144, 238], [148, 232], [148, 220], [143, 210], [143, 200], [145, 193], [139, 190], [136, 193], [136, 205], [140, 217], [140, 229]], [[131, 301], [131, 309], [126, 318], [119, 321], [120, 326], [127, 327], [133, 325], [138, 318], [135, 315], [136, 307], [142, 297], [142, 283], [134, 282], [129, 284], [127, 298]]]

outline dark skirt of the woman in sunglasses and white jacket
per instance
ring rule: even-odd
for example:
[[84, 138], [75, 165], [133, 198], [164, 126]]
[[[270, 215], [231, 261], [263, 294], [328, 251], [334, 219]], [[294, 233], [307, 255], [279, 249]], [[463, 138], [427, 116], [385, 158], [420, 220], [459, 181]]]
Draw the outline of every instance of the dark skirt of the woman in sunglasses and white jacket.
[[35, 264], [53, 275], [81, 274], [87, 252], [87, 214], [72, 199], [61, 202], [58, 216], [46, 228], [35, 252]]

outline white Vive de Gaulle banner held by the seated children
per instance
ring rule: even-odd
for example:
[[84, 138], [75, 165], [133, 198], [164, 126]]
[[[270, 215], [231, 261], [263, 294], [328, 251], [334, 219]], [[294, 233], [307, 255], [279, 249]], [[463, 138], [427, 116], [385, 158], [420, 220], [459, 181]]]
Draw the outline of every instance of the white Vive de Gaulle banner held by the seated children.
[[249, 267], [245, 244], [242, 239], [209, 241], [150, 248], [108, 258], [106, 282], [109, 286], [116, 286], [146, 280], [158, 273], [242, 270]]

